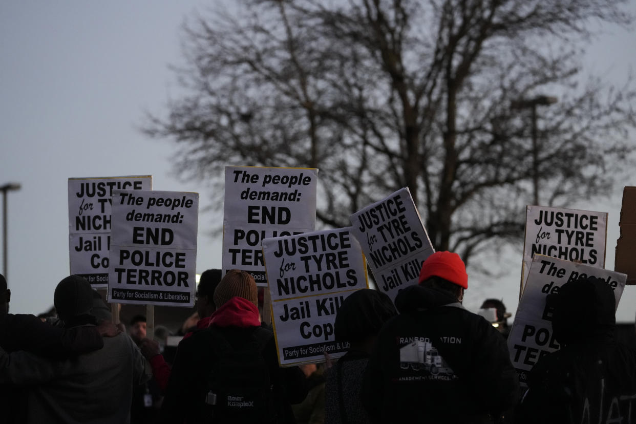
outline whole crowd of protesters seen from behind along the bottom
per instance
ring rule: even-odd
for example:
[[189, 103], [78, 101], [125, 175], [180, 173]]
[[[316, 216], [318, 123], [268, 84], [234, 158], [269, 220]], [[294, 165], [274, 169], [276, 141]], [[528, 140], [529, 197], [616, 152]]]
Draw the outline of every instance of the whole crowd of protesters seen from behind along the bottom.
[[[6, 423], [636, 423], [636, 351], [612, 339], [615, 300], [597, 278], [547, 302], [560, 350], [520, 386], [501, 301], [496, 325], [462, 306], [466, 268], [432, 254], [394, 302], [363, 289], [335, 320], [339, 360], [280, 367], [254, 278], [209, 270], [174, 360], [134, 317], [128, 334], [71, 275], [59, 322], [9, 313], [0, 275], [0, 411]], [[499, 302], [499, 303], [498, 303]]]

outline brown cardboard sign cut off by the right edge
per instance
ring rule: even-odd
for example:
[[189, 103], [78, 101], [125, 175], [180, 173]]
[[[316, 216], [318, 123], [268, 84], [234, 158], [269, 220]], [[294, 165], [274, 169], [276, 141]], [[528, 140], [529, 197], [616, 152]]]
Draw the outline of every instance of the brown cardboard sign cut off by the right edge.
[[627, 284], [636, 284], [636, 187], [623, 189], [621, 236], [616, 240], [614, 271], [627, 274]]

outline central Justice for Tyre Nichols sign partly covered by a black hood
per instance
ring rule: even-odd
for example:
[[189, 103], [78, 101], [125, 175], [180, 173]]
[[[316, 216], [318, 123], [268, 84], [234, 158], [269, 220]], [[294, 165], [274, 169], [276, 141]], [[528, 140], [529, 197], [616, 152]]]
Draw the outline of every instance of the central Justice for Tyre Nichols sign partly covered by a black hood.
[[368, 287], [364, 255], [350, 229], [263, 240], [281, 366], [322, 362], [323, 352], [338, 358], [349, 349], [335, 341], [336, 312], [349, 294]]

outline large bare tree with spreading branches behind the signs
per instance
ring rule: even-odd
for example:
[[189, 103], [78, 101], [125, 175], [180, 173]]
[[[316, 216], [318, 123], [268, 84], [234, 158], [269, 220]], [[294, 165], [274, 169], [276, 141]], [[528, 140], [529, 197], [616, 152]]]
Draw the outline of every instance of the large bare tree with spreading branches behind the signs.
[[[635, 90], [581, 81], [590, 22], [629, 25], [622, 0], [252, 0], [185, 27], [188, 94], [144, 131], [177, 170], [320, 168], [317, 217], [346, 226], [408, 186], [434, 247], [465, 260], [518, 240], [543, 204], [607, 193], [632, 152]], [[558, 103], [520, 100], [550, 93]]]

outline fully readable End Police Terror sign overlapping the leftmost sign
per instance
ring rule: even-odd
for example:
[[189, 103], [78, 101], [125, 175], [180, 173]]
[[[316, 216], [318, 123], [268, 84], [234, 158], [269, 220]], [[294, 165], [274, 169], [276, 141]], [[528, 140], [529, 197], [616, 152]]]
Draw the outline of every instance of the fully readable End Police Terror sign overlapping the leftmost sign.
[[198, 193], [113, 191], [111, 303], [193, 306]]

